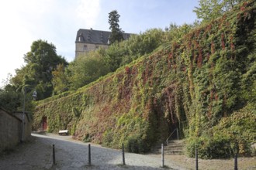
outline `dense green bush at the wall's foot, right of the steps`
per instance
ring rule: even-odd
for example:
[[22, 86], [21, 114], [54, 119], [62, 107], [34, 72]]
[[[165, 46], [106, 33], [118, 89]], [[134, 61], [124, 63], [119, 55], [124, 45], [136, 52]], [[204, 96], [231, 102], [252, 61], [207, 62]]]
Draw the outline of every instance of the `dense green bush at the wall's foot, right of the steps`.
[[230, 158], [236, 153], [251, 155], [251, 144], [256, 138], [256, 114], [244, 109], [224, 117], [219, 124], [198, 138], [188, 138], [186, 150], [189, 157], [195, 156], [199, 149], [199, 158]]

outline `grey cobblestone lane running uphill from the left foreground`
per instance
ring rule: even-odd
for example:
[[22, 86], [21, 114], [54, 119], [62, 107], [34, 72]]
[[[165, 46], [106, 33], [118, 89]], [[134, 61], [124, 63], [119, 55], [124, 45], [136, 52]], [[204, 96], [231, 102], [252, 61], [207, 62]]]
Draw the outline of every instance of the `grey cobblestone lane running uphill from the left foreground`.
[[[53, 164], [52, 145], [55, 145], [56, 165]], [[33, 134], [32, 140], [19, 145], [8, 155], [0, 157], [0, 169], [164, 169], [161, 156], [125, 153], [121, 150], [91, 145], [92, 165], [88, 165], [88, 144], [68, 136]], [[182, 169], [168, 162], [169, 169]]]

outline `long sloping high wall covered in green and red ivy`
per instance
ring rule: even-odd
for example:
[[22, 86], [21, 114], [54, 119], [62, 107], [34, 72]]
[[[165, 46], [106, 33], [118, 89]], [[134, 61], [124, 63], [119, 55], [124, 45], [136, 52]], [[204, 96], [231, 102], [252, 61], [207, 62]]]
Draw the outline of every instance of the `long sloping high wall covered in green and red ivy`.
[[[171, 41], [74, 93], [40, 101], [48, 131], [111, 148], [148, 151], [175, 128], [188, 155], [249, 154], [256, 138], [255, 2]], [[244, 120], [244, 121], [241, 121]]]

